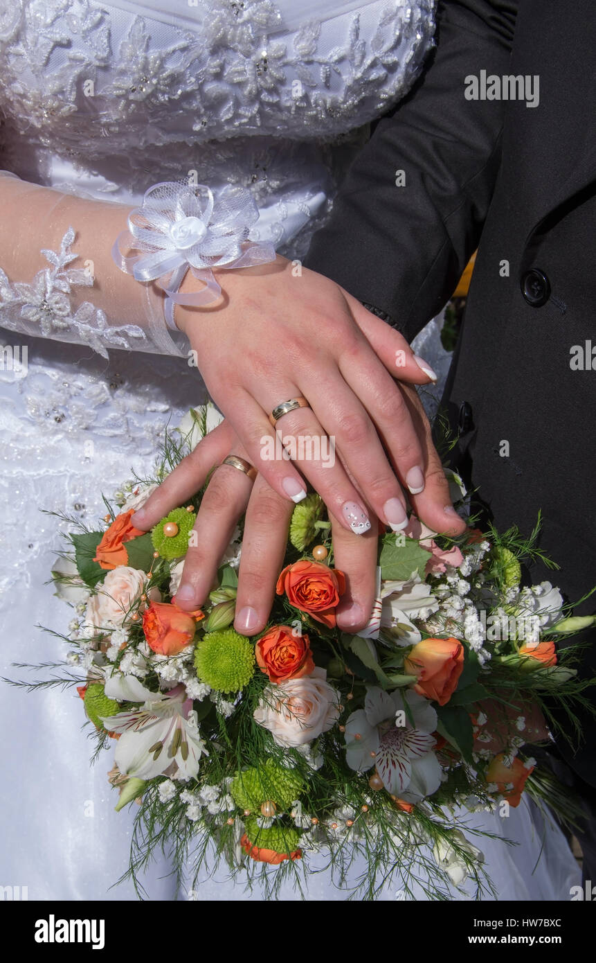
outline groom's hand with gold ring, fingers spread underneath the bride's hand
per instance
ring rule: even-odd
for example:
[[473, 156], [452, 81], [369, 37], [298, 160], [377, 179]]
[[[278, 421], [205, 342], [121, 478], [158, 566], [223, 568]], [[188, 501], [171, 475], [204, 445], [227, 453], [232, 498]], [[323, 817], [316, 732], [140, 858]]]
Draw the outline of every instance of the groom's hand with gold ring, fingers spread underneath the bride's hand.
[[[427, 464], [423, 492], [412, 496], [416, 513], [429, 517], [429, 506], [449, 500], [449, 485], [430, 439], [430, 427], [416, 391], [404, 387], [410, 416], [424, 438]], [[171, 472], [133, 516], [133, 524], [150, 529], [172, 508], [184, 505], [204, 484], [216, 465], [197, 513], [193, 544], [188, 550], [176, 595], [180, 608], [193, 610], [203, 605], [216, 579], [221, 558], [238, 519], [246, 511], [240, 562], [235, 628], [243, 635], [255, 635], [266, 625], [272, 609], [275, 583], [285, 557], [288, 526], [294, 506], [274, 492], [263, 476], [252, 481], [237, 468], [221, 465], [226, 455], [244, 457], [246, 452], [228, 422], [207, 434]], [[346, 575], [347, 590], [337, 610], [340, 628], [358, 632], [369, 621], [375, 600], [377, 531], [358, 536], [347, 531], [331, 515], [333, 564]], [[453, 531], [463, 531], [464, 522], [453, 512]]]

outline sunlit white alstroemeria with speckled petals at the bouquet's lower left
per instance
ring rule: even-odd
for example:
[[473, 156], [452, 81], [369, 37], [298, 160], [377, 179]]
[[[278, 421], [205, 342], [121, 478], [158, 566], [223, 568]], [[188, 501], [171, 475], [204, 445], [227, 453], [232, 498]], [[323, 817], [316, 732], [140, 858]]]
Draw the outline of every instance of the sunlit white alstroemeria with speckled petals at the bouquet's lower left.
[[201, 755], [209, 755], [198, 732], [193, 700], [187, 699], [184, 686], [102, 721], [109, 732], [121, 733], [115, 762], [120, 772], [129, 776], [154, 779], [168, 774], [190, 779], [198, 772]]

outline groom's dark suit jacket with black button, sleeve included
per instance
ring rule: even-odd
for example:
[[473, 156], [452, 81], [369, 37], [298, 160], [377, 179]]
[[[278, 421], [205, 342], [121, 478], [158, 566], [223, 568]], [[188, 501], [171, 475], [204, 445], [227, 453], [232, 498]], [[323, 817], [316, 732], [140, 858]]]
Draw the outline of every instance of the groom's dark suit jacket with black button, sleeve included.
[[[529, 534], [542, 509], [562, 571], [529, 574], [574, 602], [596, 584], [595, 51], [595, 0], [439, 4], [428, 69], [376, 125], [306, 260], [411, 339], [479, 247], [445, 395], [455, 457], [500, 529]], [[480, 71], [537, 75], [537, 106], [466, 99]], [[595, 651], [592, 636], [589, 675]], [[560, 749], [594, 786], [583, 726], [583, 749]]]

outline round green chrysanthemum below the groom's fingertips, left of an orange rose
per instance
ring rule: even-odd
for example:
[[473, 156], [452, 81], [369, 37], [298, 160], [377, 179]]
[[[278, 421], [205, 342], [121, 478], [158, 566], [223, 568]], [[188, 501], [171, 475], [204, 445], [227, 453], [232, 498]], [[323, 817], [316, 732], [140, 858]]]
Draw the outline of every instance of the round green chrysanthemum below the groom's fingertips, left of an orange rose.
[[238, 692], [254, 672], [254, 645], [233, 629], [209, 632], [194, 650], [194, 667], [200, 682], [218, 692]]

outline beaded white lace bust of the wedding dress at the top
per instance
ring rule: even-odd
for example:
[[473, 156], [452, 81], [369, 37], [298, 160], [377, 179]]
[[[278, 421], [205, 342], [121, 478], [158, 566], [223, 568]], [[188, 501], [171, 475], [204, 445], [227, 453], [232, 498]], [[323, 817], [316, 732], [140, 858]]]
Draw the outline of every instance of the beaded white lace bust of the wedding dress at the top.
[[175, 142], [329, 138], [409, 88], [433, 8], [13, 0], [0, 14], [0, 101], [27, 143], [84, 165], [147, 151], [150, 167]]

